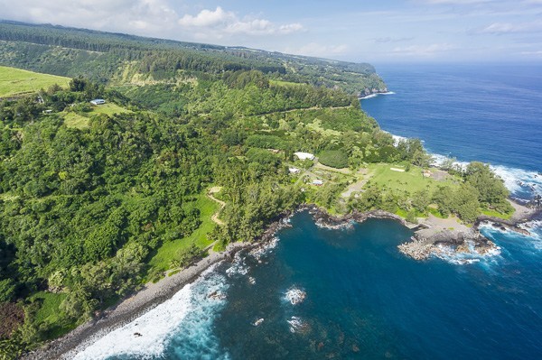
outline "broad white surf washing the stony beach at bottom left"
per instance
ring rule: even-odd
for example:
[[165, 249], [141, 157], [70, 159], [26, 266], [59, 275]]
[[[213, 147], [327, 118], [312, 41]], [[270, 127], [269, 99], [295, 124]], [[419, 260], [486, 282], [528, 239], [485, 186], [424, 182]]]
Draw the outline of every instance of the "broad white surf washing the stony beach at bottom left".
[[209, 294], [224, 293], [228, 289], [226, 279], [213, 272], [215, 266], [204, 272], [196, 282], [184, 286], [172, 299], [99, 337], [73, 359], [99, 360], [111, 356], [155, 358], [164, 354], [178, 333], [182, 333], [185, 338], [192, 337], [192, 341], [187, 343], [199, 346], [199, 351], [216, 353], [215, 358], [227, 358], [228, 355], [218, 353], [219, 343], [212, 335], [211, 323], [214, 317], [210, 315], [221, 309], [226, 300]]

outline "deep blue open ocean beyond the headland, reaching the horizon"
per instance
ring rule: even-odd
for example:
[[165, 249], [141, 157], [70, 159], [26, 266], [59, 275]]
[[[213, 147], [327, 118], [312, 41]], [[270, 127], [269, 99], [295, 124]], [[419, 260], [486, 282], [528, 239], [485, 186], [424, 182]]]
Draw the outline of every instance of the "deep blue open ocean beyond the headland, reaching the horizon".
[[361, 100], [382, 129], [429, 152], [490, 163], [520, 199], [542, 194], [542, 66], [383, 66], [391, 94]]

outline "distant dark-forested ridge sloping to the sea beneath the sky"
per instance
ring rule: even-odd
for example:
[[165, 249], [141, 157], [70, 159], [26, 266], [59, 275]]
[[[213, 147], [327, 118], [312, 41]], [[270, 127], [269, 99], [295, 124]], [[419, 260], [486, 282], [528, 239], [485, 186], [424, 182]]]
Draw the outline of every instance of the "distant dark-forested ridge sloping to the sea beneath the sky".
[[171, 81], [179, 70], [219, 74], [257, 69], [277, 80], [342, 88], [354, 95], [386, 89], [367, 63], [14, 22], [0, 22], [0, 64], [104, 83], [134, 77]]

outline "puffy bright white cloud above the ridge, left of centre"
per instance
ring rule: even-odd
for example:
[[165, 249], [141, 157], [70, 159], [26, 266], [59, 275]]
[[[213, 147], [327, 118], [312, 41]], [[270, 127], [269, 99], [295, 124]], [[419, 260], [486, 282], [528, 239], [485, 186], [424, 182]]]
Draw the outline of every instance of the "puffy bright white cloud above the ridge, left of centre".
[[247, 17], [240, 19], [237, 14], [225, 11], [220, 6], [214, 11], [201, 10], [197, 15], [185, 14], [178, 23], [185, 28], [197, 28], [199, 32], [207, 29], [210, 34], [218, 36], [223, 36], [224, 33], [272, 35], [304, 31], [304, 27], [300, 23], [276, 25], [266, 19], [249, 19]]

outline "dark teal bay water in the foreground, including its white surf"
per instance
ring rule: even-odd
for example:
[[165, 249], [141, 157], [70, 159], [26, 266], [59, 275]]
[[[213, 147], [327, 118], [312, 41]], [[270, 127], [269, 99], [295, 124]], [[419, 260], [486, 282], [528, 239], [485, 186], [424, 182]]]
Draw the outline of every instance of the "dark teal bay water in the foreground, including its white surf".
[[[501, 254], [457, 265], [398, 253], [411, 233], [392, 220], [330, 230], [304, 212], [291, 225], [79, 358], [540, 358], [540, 234], [485, 228]], [[304, 301], [286, 300], [292, 289]]]

